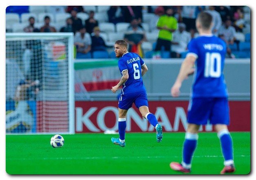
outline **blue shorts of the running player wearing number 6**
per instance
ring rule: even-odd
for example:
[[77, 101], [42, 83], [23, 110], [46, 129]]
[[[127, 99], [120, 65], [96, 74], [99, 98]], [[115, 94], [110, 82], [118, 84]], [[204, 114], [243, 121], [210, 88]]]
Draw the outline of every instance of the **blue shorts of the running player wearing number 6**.
[[143, 105], [148, 106], [148, 97], [146, 91], [121, 94], [119, 97], [118, 108], [128, 110], [132, 107], [132, 103], [135, 103], [137, 108]]

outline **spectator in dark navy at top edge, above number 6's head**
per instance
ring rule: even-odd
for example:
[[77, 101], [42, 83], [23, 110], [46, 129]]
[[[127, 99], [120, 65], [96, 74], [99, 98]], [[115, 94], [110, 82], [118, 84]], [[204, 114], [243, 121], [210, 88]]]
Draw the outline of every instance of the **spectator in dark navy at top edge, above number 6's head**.
[[108, 9], [108, 22], [113, 24], [124, 22], [124, 15], [120, 6], [110, 6]]

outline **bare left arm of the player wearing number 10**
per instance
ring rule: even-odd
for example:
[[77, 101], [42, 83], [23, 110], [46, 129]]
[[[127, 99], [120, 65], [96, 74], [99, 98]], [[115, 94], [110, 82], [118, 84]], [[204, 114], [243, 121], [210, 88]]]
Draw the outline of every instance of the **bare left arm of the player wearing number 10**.
[[181, 84], [184, 79], [188, 78], [194, 72], [194, 63], [196, 61], [196, 57], [189, 55], [185, 58], [183, 63], [181, 64], [181, 69], [179, 71], [179, 75], [172, 86], [171, 94], [173, 97], [178, 97], [180, 94], [179, 89], [181, 88]]

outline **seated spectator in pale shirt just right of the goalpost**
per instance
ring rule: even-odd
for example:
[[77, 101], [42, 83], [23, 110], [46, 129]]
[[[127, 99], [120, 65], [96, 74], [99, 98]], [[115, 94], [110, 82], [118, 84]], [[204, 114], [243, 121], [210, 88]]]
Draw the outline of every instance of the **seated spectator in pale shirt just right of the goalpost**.
[[77, 48], [76, 59], [90, 57], [92, 40], [90, 34], [86, 33], [84, 26], [80, 28], [79, 32], [75, 33], [74, 43]]

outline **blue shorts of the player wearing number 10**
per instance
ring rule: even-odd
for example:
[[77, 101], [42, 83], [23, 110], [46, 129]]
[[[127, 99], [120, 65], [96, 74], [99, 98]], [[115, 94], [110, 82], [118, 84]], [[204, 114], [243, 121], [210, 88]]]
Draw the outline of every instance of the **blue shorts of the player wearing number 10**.
[[227, 98], [193, 98], [188, 105], [188, 123], [205, 125], [230, 123], [230, 109]]

